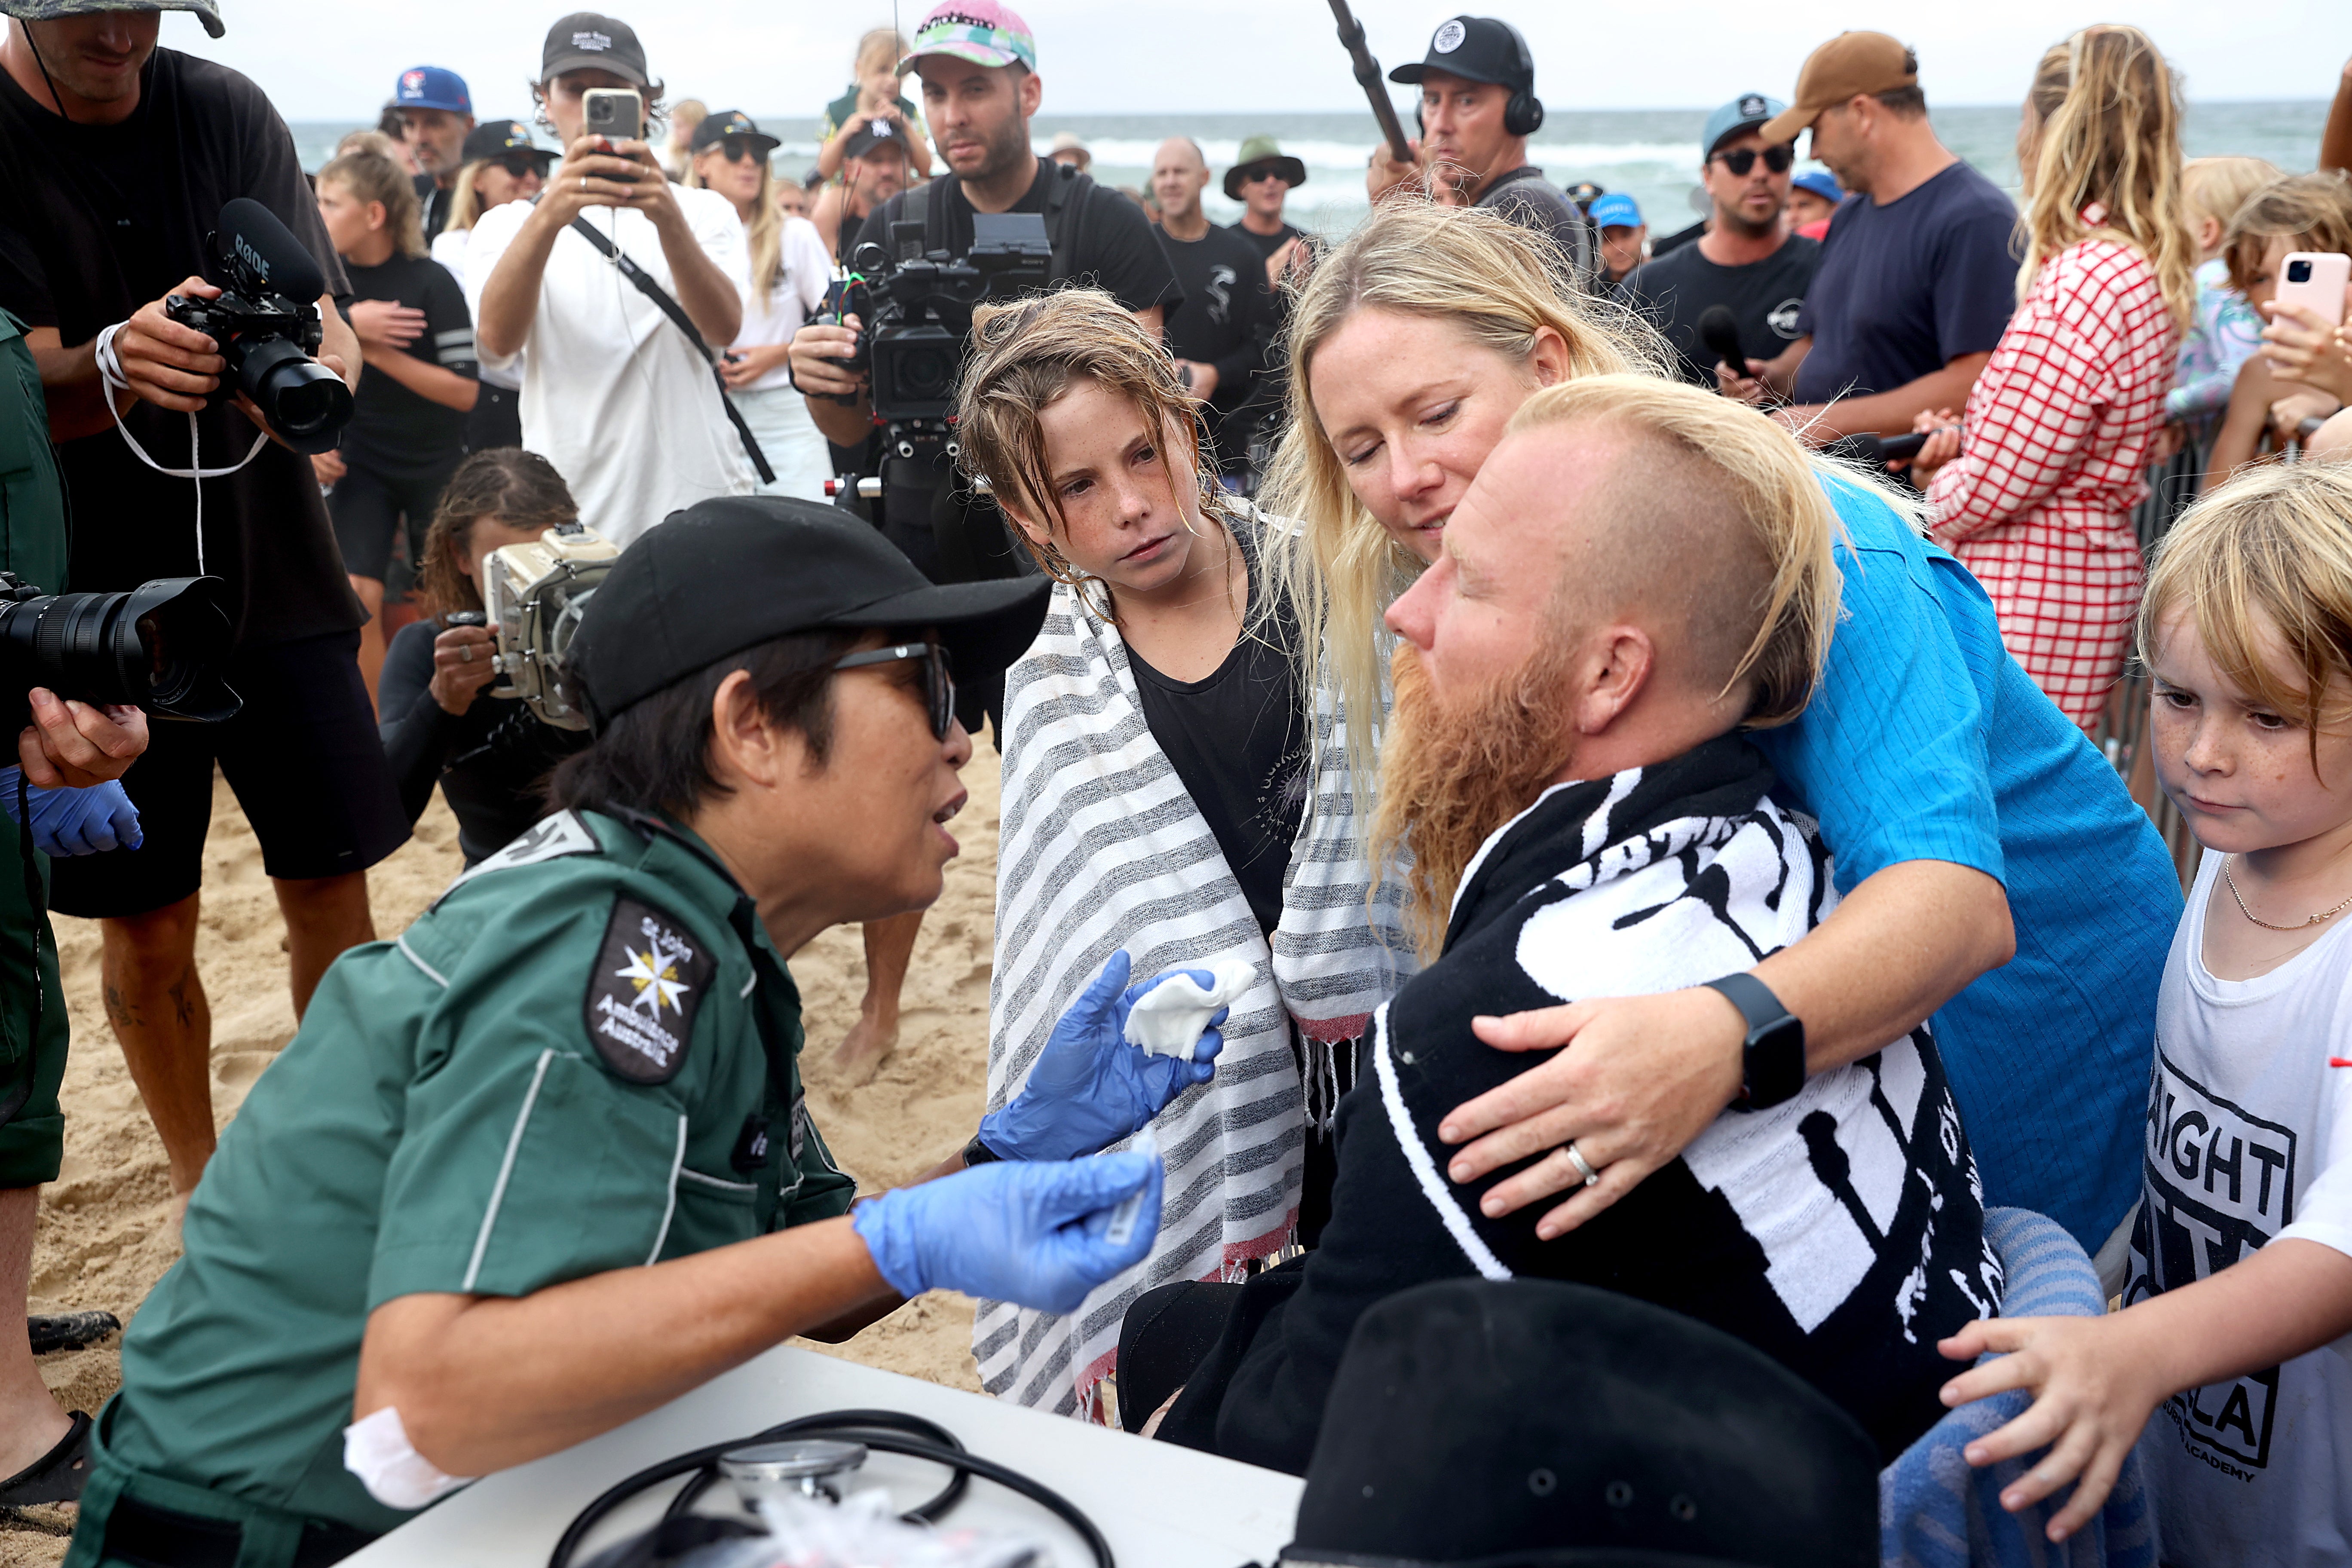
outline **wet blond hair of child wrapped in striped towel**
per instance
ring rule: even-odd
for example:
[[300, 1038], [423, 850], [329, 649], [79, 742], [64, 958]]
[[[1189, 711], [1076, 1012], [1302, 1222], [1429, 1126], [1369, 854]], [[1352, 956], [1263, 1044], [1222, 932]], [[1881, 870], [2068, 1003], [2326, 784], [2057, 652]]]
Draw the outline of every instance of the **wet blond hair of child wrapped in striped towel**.
[[1042, 414], [1080, 381], [1131, 402], [1145, 430], [1174, 433], [1174, 449], [1164, 451], [1169, 498], [1183, 510], [1176, 484], [1190, 473], [1202, 515], [1228, 522], [1216, 470], [1202, 463], [1200, 411], [1176, 381], [1176, 362], [1157, 334], [1101, 289], [1056, 289], [971, 313], [971, 355], [955, 388], [957, 461], [974, 480], [988, 480], [1009, 515], [1044, 529], [1044, 541], [1018, 531], [1044, 574], [1098, 595], [1096, 609], [1117, 623], [1103, 583], [1082, 576], [1054, 545], [1068, 520], [1054, 494]]

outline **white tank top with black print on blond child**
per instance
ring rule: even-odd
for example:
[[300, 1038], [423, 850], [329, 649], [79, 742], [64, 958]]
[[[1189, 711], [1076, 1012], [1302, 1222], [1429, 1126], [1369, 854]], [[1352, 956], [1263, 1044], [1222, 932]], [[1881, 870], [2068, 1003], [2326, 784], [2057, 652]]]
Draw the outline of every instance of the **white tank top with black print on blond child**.
[[[2145, 1201], [2124, 1305], [2256, 1248], [2352, 1255], [2352, 924], [2253, 980], [2204, 966], [2206, 851], [2157, 992]], [[2140, 1455], [2176, 1568], [2352, 1563], [2352, 1342], [2173, 1394]]]

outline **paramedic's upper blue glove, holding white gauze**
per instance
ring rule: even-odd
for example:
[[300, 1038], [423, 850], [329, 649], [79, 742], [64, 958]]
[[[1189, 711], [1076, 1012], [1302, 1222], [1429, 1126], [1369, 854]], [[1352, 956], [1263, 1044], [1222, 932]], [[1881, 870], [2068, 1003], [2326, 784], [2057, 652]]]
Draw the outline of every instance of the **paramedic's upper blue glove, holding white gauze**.
[[1230, 1009], [1216, 1009], [1192, 1060], [1145, 1056], [1127, 1044], [1127, 1016], [1136, 997], [1174, 976], [1192, 976], [1202, 990], [1216, 985], [1207, 969], [1171, 969], [1122, 992], [1131, 959], [1110, 954], [1094, 985], [1061, 1016], [1037, 1053], [1028, 1084], [1000, 1110], [981, 1117], [981, 1143], [1004, 1159], [1077, 1159], [1141, 1133], [1169, 1100], [1216, 1074], [1225, 1048], [1218, 1025]]

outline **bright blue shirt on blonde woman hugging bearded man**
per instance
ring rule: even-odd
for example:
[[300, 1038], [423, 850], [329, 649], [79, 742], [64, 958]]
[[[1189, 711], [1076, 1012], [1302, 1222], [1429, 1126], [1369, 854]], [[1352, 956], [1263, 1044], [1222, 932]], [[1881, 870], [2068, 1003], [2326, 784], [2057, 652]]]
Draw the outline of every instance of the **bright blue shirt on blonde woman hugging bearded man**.
[[1837, 637], [1804, 717], [1752, 741], [1820, 818], [1837, 886], [1903, 860], [1999, 877], [2018, 954], [1936, 1013], [1985, 1204], [2098, 1251], [2140, 1190], [2157, 983], [2180, 882], [2147, 813], [2002, 646], [1966, 567], [1832, 484]]

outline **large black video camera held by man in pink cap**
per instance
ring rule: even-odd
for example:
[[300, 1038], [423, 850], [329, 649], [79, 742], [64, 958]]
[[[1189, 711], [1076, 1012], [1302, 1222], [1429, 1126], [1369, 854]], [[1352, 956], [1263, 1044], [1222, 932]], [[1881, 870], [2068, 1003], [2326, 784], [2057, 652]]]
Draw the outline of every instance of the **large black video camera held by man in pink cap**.
[[971, 308], [1047, 284], [1054, 242], [1035, 212], [971, 214], [971, 254], [922, 249], [922, 223], [891, 223], [896, 256], [861, 244], [847, 308], [866, 322], [858, 357], [873, 378], [875, 418], [946, 421], [971, 336]]

